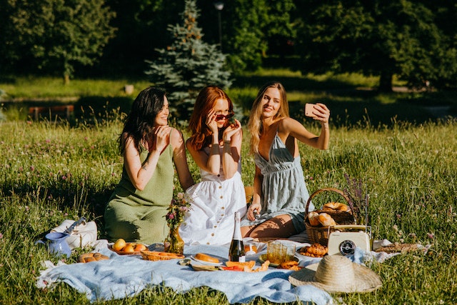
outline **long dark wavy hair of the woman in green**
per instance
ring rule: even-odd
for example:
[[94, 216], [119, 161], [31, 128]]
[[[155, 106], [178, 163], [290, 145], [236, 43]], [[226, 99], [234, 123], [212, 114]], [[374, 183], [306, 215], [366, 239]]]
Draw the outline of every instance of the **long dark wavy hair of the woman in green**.
[[124, 129], [119, 136], [119, 151], [124, 155], [126, 139], [134, 140], [136, 150], [140, 151], [141, 141], [147, 141], [154, 127], [157, 114], [164, 108], [166, 92], [155, 87], [141, 91], [131, 105], [131, 111], [124, 120]]

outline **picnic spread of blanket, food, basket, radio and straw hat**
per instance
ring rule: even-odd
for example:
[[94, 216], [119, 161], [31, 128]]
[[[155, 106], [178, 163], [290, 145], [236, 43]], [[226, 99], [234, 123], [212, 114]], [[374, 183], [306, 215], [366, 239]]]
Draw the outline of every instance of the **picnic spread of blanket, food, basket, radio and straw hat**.
[[[318, 190], [310, 198], [322, 191], [335, 189]], [[371, 227], [356, 223], [346, 206], [327, 204], [306, 214], [306, 231], [301, 234], [271, 241], [243, 239], [246, 261], [230, 261], [229, 244], [186, 245], [184, 253], [169, 253], [173, 252], [167, 251], [169, 245], [161, 243], [92, 240], [94, 250], [81, 254], [76, 264], [44, 261], [36, 286], [52, 288], [64, 282], [91, 302], [136, 296], [161, 285], [177, 293], [208, 286], [223, 292], [230, 304], [261, 297], [274, 303], [300, 300], [325, 305], [333, 304], [333, 293], [379, 289], [381, 277], [368, 267], [372, 262], [428, 250], [429, 246], [419, 244], [373, 241]], [[56, 241], [48, 246], [51, 253], [59, 250]]]

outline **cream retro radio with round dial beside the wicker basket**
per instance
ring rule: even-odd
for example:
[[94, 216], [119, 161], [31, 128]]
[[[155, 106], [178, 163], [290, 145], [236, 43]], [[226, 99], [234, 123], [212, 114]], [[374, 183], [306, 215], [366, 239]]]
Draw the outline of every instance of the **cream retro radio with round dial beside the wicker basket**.
[[371, 250], [371, 226], [340, 225], [328, 227], [328, 255], [351, 255], [357, 248]]

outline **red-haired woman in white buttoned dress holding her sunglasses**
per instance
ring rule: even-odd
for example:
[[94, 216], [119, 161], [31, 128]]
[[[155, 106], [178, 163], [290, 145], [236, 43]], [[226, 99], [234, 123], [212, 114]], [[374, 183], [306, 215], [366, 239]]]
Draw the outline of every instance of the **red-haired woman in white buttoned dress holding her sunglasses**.
[[189, 121], [187, 149], [200, 168], [201, 182], [186, 191], [191, 209], [179, 234], [186, 244], [229, 244], [234, 214], [246, 213], [241, 181], [241, 123], [234, 119], [229, 96], [217, 86], [206, 86], [197, 96]]

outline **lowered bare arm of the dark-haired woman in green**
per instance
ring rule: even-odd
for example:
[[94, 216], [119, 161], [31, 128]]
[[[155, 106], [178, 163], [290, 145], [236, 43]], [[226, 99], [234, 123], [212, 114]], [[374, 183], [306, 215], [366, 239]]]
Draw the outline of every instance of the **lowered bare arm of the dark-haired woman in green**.
[[173, 159], [178, 172], [179, 183], [184, 190], [194, 185], [189, 165], [187, 164], [186, 145], [181, 131], [173, 129], [170, 134], [170, 144], [173, 147]]

